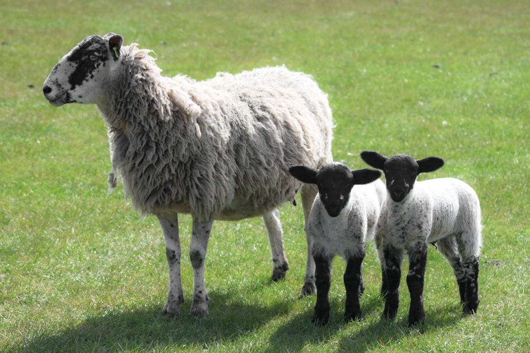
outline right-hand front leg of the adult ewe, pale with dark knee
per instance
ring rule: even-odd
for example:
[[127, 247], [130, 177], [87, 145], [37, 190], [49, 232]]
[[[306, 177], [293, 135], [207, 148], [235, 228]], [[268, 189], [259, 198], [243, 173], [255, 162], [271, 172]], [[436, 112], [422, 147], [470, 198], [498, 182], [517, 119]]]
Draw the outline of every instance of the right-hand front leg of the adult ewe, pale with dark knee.
[[193, 219], [190, 260], [193, 267], [193, 301], [190, 314], [195, 316], [208, 314], [208, 294], [204, 280], [204, 261], [213, 220], [204, 223]]

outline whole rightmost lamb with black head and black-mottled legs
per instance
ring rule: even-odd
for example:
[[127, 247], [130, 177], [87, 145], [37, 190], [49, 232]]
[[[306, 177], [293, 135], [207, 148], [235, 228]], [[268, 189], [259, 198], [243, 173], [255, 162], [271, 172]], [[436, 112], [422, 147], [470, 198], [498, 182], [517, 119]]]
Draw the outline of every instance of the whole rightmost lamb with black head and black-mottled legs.
[[420, 173], [444, 165], [438, 157], [414, 160], [409, 155], [384, 157], [363, 151], [361, 158], [383, 170], [387, 197], [377, 223], [384, 254], [382, 293], [386, 295], [383, 316], [393, 319], [399, 306], [399, 283], [403, 251], [409, 256], [407, 286], [410, 292], [409, 326], [423, 322], [423, 279], [427, 245], [435, 244], [453, 268], [464, 313], [475, 313], [479, 305], [479, 256], [481, 213], [479, 198], [471, 186], [454, 178], [417, 182]]

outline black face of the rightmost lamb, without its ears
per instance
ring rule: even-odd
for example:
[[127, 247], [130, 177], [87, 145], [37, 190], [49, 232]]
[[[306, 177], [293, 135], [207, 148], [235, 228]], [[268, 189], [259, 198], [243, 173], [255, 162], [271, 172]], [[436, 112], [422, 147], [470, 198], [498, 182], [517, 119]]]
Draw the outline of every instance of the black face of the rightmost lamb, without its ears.
[[395, 202], [401, 202], [414, 187], [419, 166], [418, 162], [409, 155], [395, 155], [386, 160], [383, 172], [390, 197]]

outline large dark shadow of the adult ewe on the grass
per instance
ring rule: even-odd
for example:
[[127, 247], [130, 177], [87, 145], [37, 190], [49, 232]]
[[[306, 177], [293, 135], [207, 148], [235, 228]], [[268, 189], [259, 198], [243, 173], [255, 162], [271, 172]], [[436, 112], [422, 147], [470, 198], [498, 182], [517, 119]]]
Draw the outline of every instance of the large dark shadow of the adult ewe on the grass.
[[[189, 315], [191, 300], [181, 306], [179, 317], [162, 315], [160, 306], [131, 311], [95, 314], [80, 324], [52, 333], [42, 330], [12, 342], [9, 352], [147, 351], [167, 347], [196, 347], [199, 350], [218, 343], [237, 341], [259, 330], [275, 316], [289, 311], [289, 303], [268, 306], [234, 299], [227, 292], [210, 292], [209, 315]], [[241, 298], [241, 296], [240, 296]], [[248, 318], [241, 320], [241, 318]]]

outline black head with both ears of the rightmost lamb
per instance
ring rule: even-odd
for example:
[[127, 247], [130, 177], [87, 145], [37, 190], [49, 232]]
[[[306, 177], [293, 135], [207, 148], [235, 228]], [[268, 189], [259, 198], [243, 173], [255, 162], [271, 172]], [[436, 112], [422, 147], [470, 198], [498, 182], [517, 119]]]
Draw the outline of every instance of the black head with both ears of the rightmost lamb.
[[401, 202], [410, 194], [420, 173], [435, 171], [444, 165], [438, 157], [415, 160], [409, 155], [387, 158], [374, 151], [361, 152], [361, 158], [370, 166], [385, 173], [386, 189], [395, 202]]

